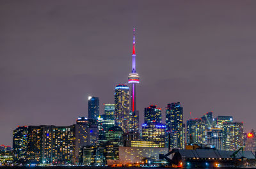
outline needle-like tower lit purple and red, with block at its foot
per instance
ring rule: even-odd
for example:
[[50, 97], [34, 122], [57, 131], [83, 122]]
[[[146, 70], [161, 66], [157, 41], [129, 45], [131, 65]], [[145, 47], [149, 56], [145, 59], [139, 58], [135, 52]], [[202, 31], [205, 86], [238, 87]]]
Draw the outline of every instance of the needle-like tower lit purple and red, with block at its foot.
[[131, 112], [129, 118], [129, 131], [138, 133], [139, 111], [136, 109], [136, 84], [140, 83], [140, 77], [136, 72], [135, 28], [133, 29], [132, 43], [132, 71], [129, 73], [128, 83], [131, 84]]

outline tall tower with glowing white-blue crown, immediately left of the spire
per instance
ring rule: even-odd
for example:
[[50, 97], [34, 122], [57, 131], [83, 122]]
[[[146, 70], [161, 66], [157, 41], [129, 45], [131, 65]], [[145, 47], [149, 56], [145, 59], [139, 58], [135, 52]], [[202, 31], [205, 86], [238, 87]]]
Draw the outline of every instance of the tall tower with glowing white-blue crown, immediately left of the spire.
[[129, 132], [129, 87], [119, 84], [115, 87], [115, 124], [124, 133]]

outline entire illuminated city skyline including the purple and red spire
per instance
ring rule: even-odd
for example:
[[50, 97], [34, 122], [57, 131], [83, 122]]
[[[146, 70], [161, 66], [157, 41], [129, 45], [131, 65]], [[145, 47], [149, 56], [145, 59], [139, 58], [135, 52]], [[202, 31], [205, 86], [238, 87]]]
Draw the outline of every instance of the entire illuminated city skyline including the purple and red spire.
[[[256, 133], [253, 130], [244, 133], [243, 122], [235, 122], [232, 116], [213, 117], [212, 112], [207, 112], [201, 118], [189, 119], [185, 123], [180, 102], [168, 103], [164, 111], [157, 105], [149, 105], [144, 110], [144, 122], [139, 126], [136, 85], [140, 83], [140, 77], [136, 72], [135, 59], [134, 36], [132, 71], [128, 77], [131, 87], [116, 85], [115, 103], [105, 103], [103, 114], [100, 114], [99, 98], [90, 96], [88, 117], [78, 117], [71, 126], [18, 126], [13, 130], [12, 149], [5, 145], [0, 147], [0, 164], [159, 166], [172, 163], [189, 166], [197, 159], [214, 159], [192, 156], [193, 153], [186, 155], [189, 150], [198, 147], [214, 149], [209, 152], [218, 152], [216, 159], [225, 157], [227, 161], [231, 157], [227, 158], [227, 153], [225, 155], [223, 151], [228, 151], [235, 158], [241, 149], [252, 151], [247, 157], [254, 156]], [[230, 151], [237, 152], [234, 155]], [[200, 150], [195, 152], [203, 153]], [[168, 153], [176, 153], [176, 159], [190, 162], [168, 160], [164, 156]], [[185, 154], [186, 158], [181, 154]]]

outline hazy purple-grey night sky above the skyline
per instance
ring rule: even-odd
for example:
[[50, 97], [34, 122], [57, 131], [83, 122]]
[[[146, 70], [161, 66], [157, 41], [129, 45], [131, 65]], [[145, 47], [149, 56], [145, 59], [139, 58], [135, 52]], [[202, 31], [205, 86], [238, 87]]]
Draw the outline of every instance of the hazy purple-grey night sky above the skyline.
[[180, 101], [256, 129], [256, 1], [0, 1], [0, 144], [18, 125], [74, 124], [114, 102], [136, 27], [144, 108]]

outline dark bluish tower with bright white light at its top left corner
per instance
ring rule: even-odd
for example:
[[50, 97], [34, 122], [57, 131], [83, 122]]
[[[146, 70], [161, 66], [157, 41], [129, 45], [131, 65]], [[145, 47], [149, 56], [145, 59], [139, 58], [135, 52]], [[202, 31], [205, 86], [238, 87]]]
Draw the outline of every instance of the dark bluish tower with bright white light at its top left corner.
[[88, 97], [88, 117], [89, 119], [97, 119], [99, 117], [100, 106], [98, 97]]

